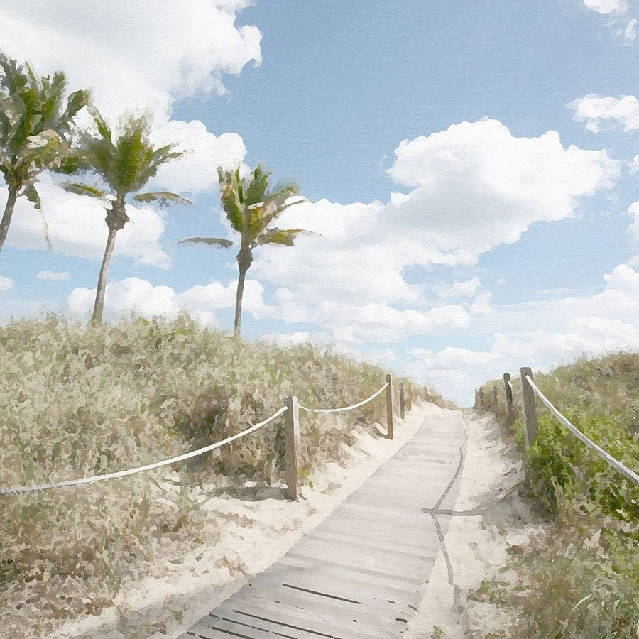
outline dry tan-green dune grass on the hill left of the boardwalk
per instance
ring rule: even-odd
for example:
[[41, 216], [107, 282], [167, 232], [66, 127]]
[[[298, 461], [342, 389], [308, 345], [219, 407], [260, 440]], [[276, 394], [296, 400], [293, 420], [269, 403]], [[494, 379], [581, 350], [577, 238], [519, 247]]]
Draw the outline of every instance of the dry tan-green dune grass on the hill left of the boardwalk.
[[[357, 403], [385, 372], [310, 344], [242, 342], [186, 315], [91, 327], [57, 316], [13, 321], [0, 327], [1, 485], [151, 464], [266, 419], [286, 396], [310, 408]], [[300, 482], [312, 485], [323, 464], [344, 459], [354, 430], [372, 432], [385, 410], [382, 395], [344, 415], [303, 413]], [[276, 489], [283, 451], [279, 419], [153, 471], [0, 495], [0, 626], [23, 606], [40, 621], [99, 613], [165, 543], [214, 543], [210, 525], [203, 537], [202, 486]]]

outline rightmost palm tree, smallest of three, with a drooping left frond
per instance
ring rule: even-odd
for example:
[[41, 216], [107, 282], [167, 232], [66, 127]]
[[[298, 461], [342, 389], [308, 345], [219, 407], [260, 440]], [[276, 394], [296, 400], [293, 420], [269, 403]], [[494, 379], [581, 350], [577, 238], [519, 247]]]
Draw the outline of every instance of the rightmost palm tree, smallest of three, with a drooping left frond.
[[[239, 233], [240, 247], [237, 253], [239, 277], [237, 279], [237, 293], [235, 301], [234, 337], [239, 337], [242, 317], [242, 297], [246, 272], [253, 263], [253, 249], [264, 244], [284, 244], [293, 246], [295, 236], [305, 232], [304, 229], [271, 228], [271, 222], [280, 213], [293, 206], [305, 202], [305, 199], [287, 202], [292, 195], [300, 191], [297, 185], [278, 185], [271, 189], [268, 177], [270, 171], [259, 164], [251, 179], [240, 176], [240, 170], [224, 171], [218, 168], [220, 195], [222, 208], [229, 219], [233, 230]], [[220, 237], [187, 237], [179, 244], [206, 244], [207, 246], [222, 246], [228, 248], [233, 242]]]

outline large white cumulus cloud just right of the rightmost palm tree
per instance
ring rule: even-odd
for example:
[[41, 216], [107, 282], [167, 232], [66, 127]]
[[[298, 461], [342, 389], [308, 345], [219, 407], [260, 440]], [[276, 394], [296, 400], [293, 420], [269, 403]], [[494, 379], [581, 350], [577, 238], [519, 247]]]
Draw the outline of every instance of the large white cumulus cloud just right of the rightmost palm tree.
[[285, 322], [317, 322], [344, 343], [467, 327], [493, 312], [479, 278], [429, 290], [406, 269], [473, 264], [533, 222], [571, 217], [620, 173], [606, 151], [564, 148], [553, 131], [515, 138], [487, 119], [404, 141], [395, 155], [390, 173], [410, 191], [388, 204], [305, 202], [278, 219], [310, 231], [293, 249], [264, 247], [253, 265]]

